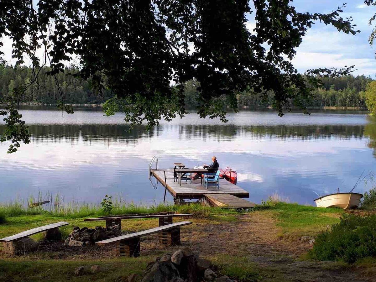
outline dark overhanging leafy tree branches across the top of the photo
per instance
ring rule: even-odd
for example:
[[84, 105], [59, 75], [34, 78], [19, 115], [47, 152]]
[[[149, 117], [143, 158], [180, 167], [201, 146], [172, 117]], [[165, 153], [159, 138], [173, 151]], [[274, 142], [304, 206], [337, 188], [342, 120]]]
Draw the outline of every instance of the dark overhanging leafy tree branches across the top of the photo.
[[[114, 97], [105, 104], [107, 114], [119, 109], [132, 124], [171, 120], [186, 114], [184, 83], [199, 82], [197, 113], [225, 121], [227, 105], [236, 111], [236, 95], [246, 89], [257, 93], [273, 91], [282, 116], [292, 101], [302, 108], [311, 98], [311, 87], [319, 76], [349, 74], [341, 70], [308, 70], [299, 74], [290, 60], [307, 30], [316, 22], [332, 25], [353, 35], [351, 18], [342, 18], [345, 5], [328, 14], [297, 12], [291, 0], [2, 0], [0, 37], [13, 40], [17, 64], [30, 58], [33, 78], [14, 89], [3, 115], [14, 108], [26, 89], [36, 83], [38, 70], [47, 65], [48, 75], [59, 85], [57, 74], [79, 58], [79, 71], [65, 73], [89, 80], [91, 87]], [[248, 18], [255, 29], [248, 30]], [[4, 55], [1, 52], [0, 59]], [[45, 51], [43, 59], [37, 50]], [[61, 100], [60, 108], [72, 109]], [[18, 114], [18, 112], [17, 112]], [[10, 131], [3, 138], [19, 147], [27, 128], [21, 117], [6, 120]], [[14, 122], [20, 127], [14, 127]], [[18, 129], [20, 128], [20, 129]], [[27, 139], [28, 141], [28, 139]], [[14, 152], [13, 148], [9, 152]]]

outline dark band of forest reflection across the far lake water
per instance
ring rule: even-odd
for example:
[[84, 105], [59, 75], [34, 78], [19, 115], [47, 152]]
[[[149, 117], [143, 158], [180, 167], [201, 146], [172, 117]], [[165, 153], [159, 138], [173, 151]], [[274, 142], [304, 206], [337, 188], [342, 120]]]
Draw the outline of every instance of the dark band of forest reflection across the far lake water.
[[[240, 136], [252, 136], [265, 138], [273, 136], [277, 138], [297, 138], [301, 140], [315, 138], [359, 138], [363, 135], [370, 138], [376, 137], [376, 121], [365, 126], [352, 125], [325, 125], [325, 126], [225, 126], [225, 125], [162, 125], [147, 132], [145, 126], [136, 126], [129, 130], [127, 125], [115, 124], [30, 124], [30, 134], [34, 140], [61, 139], [74, 141], [82, 138], [84, 141], [105, 139], [106, 141], [124, 140], [135, 142], [138, 139], [161, 136], [166, 130], [178, 132], [179, 139], [233, 139]], [[3, 134], [5, 126], [0, 125], [0, 134]], [[370, 147], [374, 144], [370, 143]]]

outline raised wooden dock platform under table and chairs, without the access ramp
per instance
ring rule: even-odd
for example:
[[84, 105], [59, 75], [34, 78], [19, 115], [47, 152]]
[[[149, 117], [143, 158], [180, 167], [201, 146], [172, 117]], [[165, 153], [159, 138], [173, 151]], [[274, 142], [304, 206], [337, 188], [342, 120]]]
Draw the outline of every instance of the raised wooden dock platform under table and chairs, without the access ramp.
[[[166, 172], [166, 182], [167, 187], [164, 181], [164, 171]], [[167, 188], [168, 192], [175, 198], [200, 198], [204, 197], [204, 194], [207, 193], [215, 193], [215, 194], [231, 194], [233, 196], [241, 197], [241, 198], [249, 198], [249, 192], [240, 188], [237, 185], [234, 185], [227, 180], [221, 179], [219, 190], [214, 187], [210, 187], [209, 189], [204, 188], [201, 184], [201, 180], [192, 180], [192, 184], [190, 182], [182, 181], [182, 186], [179, 185], [177, 181], [174, 182], [174, 172], [173, 170], [153, 170], [153, 176], [161, 182], [161, 184]]]

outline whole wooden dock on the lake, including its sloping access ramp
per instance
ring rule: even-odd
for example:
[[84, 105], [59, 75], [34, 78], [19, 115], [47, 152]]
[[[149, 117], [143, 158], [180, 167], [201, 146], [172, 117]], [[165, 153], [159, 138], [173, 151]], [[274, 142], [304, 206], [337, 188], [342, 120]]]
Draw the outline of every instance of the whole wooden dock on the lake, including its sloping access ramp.
[[[154, 176], [165, 188], [167, 188], [167, 191], [174, 197], [174, 200], [206, 198], [209, 203], [219, 206], [214, 203], [216, 201], [221, 203], [222, 207], [226, 208], [249, 208], [255, 206], [255, 204], [247, 200], [240, 199], [249, 198], [248, 191], [228, 182], [225, 179], [220, 180], [220, 189], [218, 190], [217, 188], [214, 188], [214, 186], [209, 186], [209, 189], [204, 188], [200, 179], [192, 180], [192, 183], [190, 183], [190, 180], [183, 180], [182, 186], [180, 186], [177, 180], [174, 182], [174, 171], [172, 169], [152, 170], [151, 173], [152, 176]], [[166, 173], [167, 184], [164, 180], [164, 173]], [[216, 197], [214, 197], [214, 195]], [[221, 200], [223, 200], [223, 202], [221, 202]]]

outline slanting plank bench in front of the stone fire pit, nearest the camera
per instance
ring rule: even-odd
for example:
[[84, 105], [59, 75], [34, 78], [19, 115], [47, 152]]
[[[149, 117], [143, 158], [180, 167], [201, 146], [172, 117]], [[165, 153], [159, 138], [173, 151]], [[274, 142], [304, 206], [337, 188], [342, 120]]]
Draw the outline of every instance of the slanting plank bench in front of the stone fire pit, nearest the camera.
[[158, 226], [152, 229], [130, 233], [127, 235], [118, 236], [115, 238], [103, 240], [97, 242], [99, 245], [105, 245], [109, 243], [116, 243], [116, 255], [117, 256], [140, 256], [140, 239], [143, 236], [151, 235], [154, 233], [165, 232], [164, 241], [161, 242], [161, 237], [159, 237], [159, 244], [163, 246], [170, 245], [180, 245], [180, 227], [192, 224], [191, 221], [180, 221], [176, 223], [166, 224], [163, 226]]

